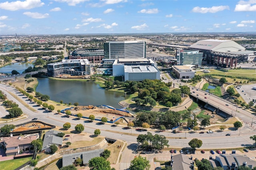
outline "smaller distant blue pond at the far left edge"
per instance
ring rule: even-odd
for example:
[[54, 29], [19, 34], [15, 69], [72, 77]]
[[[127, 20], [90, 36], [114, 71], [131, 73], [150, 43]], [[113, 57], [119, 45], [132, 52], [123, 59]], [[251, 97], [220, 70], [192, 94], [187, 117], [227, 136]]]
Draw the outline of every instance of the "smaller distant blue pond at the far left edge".
[[18, 71], [20, 74], [24, 70], [26, 70], [29, 66], [34, 67], [33, 64], [28, 64], [28, 63], [14, 63], [14, 64], [9, 64], [7, 66], [3, 66], [0, 68], [0, 73], [8, 73], [11, 74], [12, 70]]

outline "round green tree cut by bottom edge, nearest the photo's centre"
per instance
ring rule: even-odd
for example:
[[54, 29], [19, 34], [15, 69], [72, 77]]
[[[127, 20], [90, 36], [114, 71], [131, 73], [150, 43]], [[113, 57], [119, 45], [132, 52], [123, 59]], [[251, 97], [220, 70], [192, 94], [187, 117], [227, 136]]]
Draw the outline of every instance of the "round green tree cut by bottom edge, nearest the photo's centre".
[[146, 158], [143, 158], [142, 156], [138, 156], [131, 161], [129, 169], [130, 170], [149, 170], [150, 169], [149, 160], [146, 160]]

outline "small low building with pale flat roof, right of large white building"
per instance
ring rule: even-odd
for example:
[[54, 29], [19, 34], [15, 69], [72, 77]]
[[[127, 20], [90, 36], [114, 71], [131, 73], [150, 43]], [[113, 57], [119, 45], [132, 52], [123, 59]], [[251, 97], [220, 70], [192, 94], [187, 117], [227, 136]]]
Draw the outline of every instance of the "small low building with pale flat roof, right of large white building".
[[192, 70], [193, 67], [194, 65], [172, 66], [172, 72], [177, 78], [193, 78], [195, 76], [195, 72]]

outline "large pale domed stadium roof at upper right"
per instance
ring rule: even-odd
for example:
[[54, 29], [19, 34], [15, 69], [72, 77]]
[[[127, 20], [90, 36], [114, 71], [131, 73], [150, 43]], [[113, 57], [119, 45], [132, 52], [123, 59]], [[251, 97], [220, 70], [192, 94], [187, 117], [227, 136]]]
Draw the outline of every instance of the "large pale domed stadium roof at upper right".
[[190, 45], [190, 48], [193, 49], [202, 49], [209, 51], [217, 51], [217, 52], [237, 52], [237, 51], [245, 51], [245, 48], [231, 40], [216, 40], [216, 39], [207, 39], [200, 40]]

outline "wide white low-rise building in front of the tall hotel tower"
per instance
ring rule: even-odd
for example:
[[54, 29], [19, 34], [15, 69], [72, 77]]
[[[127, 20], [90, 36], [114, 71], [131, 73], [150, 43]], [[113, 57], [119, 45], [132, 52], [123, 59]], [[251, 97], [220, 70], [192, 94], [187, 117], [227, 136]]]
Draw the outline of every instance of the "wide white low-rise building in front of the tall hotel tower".
[[160, 71], [152, 59], [116, 59], [112, 68], [113, 76], [124, 76], [124, 81], [160, 80]]

